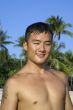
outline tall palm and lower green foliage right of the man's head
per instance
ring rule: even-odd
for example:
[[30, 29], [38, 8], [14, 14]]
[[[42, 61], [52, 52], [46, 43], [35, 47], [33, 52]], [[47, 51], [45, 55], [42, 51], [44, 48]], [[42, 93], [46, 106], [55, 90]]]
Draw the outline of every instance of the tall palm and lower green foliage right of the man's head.
[[72, 75], [73, 54], [70, 51], [67, 51], [65, 54], [62, 53], [60, 50], [61, 48], [65, 48], [65, 44], [59, 44], [55, 39], [58, 38], [58, 40], [60, 40], [62, 34], [73, 37], [73, 33], [67, 30], [67, 28], [72, 27], [72, 25], [70, 23], [65, 23], [63, 18], [60, 18], [59, 16], [51, 16], [46, 20], [46, 23], [50, 24], [50, 28], [54, 34], [54, 42], [48, 64], [51, 68], [63, 71], [68, 75]]

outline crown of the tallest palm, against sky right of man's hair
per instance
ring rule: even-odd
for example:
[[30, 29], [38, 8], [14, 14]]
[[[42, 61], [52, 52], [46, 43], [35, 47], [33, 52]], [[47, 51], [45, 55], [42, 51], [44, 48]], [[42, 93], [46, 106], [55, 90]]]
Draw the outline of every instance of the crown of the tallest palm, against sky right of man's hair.
[[58, 40], [61, 38], [61, 34], [67, 34], [73, 37], [73, 33], [69, 30], [66, 30], [69, 27], [72, 27], [70, 23], [65, 23], [59, 16], [51, 16], [46, 20], [46, 23], [50, 24], [50, 27], [54, 33], [54, 37], [58, 37]]

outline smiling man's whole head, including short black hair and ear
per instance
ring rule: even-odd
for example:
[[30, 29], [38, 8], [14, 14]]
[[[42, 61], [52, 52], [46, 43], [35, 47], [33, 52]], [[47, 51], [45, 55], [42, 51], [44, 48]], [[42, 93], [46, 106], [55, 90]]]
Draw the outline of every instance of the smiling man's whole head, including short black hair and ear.
[[24, 43], [28, 60], [36, 64], [45, 63], [51, 52], [52, 38], [48, 24], [38, 22], [30, 25], [26, 29]]

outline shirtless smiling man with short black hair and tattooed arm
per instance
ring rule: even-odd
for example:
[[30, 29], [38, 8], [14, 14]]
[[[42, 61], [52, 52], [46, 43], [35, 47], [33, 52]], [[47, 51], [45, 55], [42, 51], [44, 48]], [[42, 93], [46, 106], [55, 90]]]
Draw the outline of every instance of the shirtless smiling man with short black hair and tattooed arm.
[[73, 110], [63, 72], [47, 68], [53, 34], [38, 22], [25, 32], [26, 65], [5, 84], [1, 110]]

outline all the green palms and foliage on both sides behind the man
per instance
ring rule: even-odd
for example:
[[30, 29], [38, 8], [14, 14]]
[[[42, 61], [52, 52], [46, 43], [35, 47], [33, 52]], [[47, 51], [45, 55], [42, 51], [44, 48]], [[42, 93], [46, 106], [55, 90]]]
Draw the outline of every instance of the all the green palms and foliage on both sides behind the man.
[[[65, 43], [59, 43], [62, 34], [65, 34], [65, 37], [73, 37], [73, 33], [67, 30], [67, 28], [72, 27], [72, 25], [65, 23], [63, 18], [59, 16], [51, 16], [44, 22], [50, 24], [53, 31], [53, 44], [51, 55], [47, 62], [48, 67], [63, 71], [68, 76], [73, 76], [73, 53], [71, 50], [62, 52], [61, 49], [65, 48]], [[0, 28], [0, 87], [3, 87], [5, 81], [22, 68], [27, 61], [26, 53], [23, 50], [25, 37], [19, 36], [15, 42], [9, 39], [10, 36]], [[14, 47], [21, 47], [22, 53], [20, 58], [17, 58], [16, 55], [10, 55], [6, 46], [10, 44], [13, 44]]]

